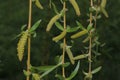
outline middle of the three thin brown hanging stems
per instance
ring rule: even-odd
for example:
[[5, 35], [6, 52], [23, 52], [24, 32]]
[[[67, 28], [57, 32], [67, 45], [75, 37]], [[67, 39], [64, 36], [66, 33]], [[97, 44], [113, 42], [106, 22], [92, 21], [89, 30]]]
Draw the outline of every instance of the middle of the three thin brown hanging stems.
[[[63, 3], [63, 10], [64, 10], [64, 17], [63, 17], [63, 21], [64, 21], [64, 29], [66, 29], [66, 2], [64, 1]], [[65, 48], [66, 48], [66, 38], [63, 39], [63, 58], [62, 58], [62, 64], [64, 64], [65, 62]], [[63, 77], [65, 77], [65, 68], [62, 67], [62, 75]]]

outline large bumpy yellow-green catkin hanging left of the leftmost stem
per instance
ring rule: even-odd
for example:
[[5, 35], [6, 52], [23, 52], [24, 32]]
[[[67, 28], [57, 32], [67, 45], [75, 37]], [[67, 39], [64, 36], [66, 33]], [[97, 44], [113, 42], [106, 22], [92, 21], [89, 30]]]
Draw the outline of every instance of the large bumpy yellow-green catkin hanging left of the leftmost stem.
[[28, 30], [26, 30], [25, 32], [23, 32], [18, 45], [17, 45], [17, 52], [18, 52], [18, 58], [20, 61], [22, 61], [23, 59], [23, 55], [24, 55], [24, 48], [27, 42], [27, 38], [28, 38]]

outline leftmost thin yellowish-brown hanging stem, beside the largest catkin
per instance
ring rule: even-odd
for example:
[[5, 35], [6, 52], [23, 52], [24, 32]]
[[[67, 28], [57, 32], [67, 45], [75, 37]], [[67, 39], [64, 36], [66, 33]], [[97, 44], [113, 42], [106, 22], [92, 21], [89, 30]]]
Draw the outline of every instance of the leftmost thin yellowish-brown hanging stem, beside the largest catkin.
[[[29, 18], [28, 18], [28, 30], [31, 28], [31, 18], [32, 18], [32, 0], [29, 0]], [[30, 50], [31, 50], [31, 38], [28, 37], [28, 56], [27, 56], [27, 72], [29, 73], [30, 69]], [[26, 80], [30, 80], [30, 77], [27, 76]]]

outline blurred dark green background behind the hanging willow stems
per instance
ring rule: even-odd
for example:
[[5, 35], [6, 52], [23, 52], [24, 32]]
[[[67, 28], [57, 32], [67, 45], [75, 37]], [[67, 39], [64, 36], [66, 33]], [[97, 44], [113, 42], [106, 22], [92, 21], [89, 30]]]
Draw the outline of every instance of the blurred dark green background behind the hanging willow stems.
[[[62, 5], [59, 0], [53, 0], [60, 10]], [[75, 25], [75, 20], [86, 24], [86, 12], [88, 12], [88, 1], [79, 1], [81, 17], [77, 17], [71, 5], [68, 4], [67, 23]], [[45, 32], [49, 20], [55, 13], [49, 8], [49, 0], [41, 0], [44, 10], [33, 5], [32, 23], [42, 19], [37, 29], [37, 37], [32, 38], [31, 64], [34, 66], [55, 64], [54, 57], [61, 54], [59, 45], [51, 38], [58, 32], [56, 29], [50, 33]], [[94, 75], [93, 80], [120, 80], [120, 0], [108, 0], [106, 9], [109, 18], [98, 20], [97, 29], [100, 41], [106, 45], [100, 50], [102, 55], [95, 65], [102, 65], [102, 70]], [[13, 38], [20, 33], [21, 26], [28, 22], [28, 0], [0, 0], [0, 80], [25, 80], [22, 73], [26, 69], [26, 53], [24, 60], [19, 62], [17, 58], [18, 39]], [[80, 44], [76, 42], [76, 44]], [[80, 47], [80, 46], [79, 46]], [[74, 46], [74, 52], [80, 51]], [[68, 68], [68, 73], [70, 68]], [[83, 80], [80, 75], [74, 80]], [[52, 74], [51, 74], [52, 76]], [[54, 77], [54, 76], [53, 76]], [[82, 75], [83, 77], [83, 75]], [[54, 80], [54, 79], [48, 79]]]

